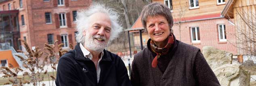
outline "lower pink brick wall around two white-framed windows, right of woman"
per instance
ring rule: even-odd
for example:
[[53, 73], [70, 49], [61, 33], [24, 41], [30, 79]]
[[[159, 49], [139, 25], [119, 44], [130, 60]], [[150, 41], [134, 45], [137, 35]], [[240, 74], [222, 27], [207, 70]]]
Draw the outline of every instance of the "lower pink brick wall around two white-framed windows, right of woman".
[[[218, 24], [225, 24], [227, 42], [219, 41]], [[194, 26], [199, 27], [200, 43], [192, 43], [191, 41], [190, 28]], [[236, 38], [233, 35], [235, 34], [235, 26], [231, 25], [225, 18], [185, 22], [181, 24], [181, 31], [179, 31], [178, 26], [174, 24], [172, 29], [174, 30], [176, 39], [187, 44], [191, 44], [200, 49], [202, 49], [204, 46], [214, 46], [220, 50], [226, 50], [233, 54], [237, 54], [237, 48], [233, 46], [236, 41]]]

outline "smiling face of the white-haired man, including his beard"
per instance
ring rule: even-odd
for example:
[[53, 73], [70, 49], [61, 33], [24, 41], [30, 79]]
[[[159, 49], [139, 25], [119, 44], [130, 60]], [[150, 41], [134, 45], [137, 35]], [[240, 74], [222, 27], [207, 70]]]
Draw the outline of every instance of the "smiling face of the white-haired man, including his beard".
[[88, 29], [83, 32], [84, 46], [90, 50], [101, 52], [109, 42], [111, 21], [105, 13], [95, 13], [89, 17]]

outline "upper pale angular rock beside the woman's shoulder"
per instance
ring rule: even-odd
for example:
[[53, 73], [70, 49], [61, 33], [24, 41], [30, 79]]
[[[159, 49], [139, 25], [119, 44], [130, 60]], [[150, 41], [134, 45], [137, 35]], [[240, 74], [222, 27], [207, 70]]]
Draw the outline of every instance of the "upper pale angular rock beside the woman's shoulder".
[[212, 69], [215, 69], [224, 64], [232, 64], [233, 54], [224, 50], [219, 50], [212, 46], [204, 46], [204, 58]]

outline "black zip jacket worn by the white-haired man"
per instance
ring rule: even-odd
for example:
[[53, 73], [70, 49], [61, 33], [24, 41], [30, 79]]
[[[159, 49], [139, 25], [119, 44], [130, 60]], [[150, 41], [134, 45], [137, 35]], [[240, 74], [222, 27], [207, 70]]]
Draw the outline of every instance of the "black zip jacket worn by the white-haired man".
[[85, 58], [79, 44], [59, 59], [57, 86], [131, 86], [126, 66], [121, 58], [109, 51], [99, 62], [101, 74], [97, 83], [97, 72], [92, 60]]

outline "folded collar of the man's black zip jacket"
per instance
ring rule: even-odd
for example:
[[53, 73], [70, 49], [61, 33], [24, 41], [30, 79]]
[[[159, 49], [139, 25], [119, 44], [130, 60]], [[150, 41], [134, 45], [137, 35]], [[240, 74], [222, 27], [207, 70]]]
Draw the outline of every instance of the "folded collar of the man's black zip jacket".
[[[90, 59], [84, 57], [84, 54], [80, 48], [80, 43], [76, 44], [74, 51], [75, 51], [75, 59], [90, 60]], [[107, 50], [104, 49], [103, 53], [104, 53], [104, 55], [101, 60], [112, 61], [111, 55], [109, 54], [109, 52]]]

